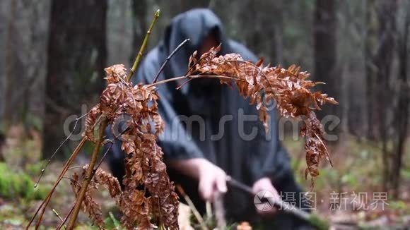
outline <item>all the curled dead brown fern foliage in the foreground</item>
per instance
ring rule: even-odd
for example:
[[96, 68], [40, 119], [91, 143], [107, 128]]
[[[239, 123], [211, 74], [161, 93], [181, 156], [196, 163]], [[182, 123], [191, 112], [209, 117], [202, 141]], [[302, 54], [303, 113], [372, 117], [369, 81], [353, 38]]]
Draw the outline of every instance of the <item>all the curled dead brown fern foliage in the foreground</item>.
[[[320, 105], [325, 102], [337, 102], [326, 94], [312, 92], [311, 88], [319, 83], [306, 80], [309, 74], [300, 72], [300, 68], [296, 66], [287, 69], [280, 66], [263, 66], [262, 60], [254, 64], [243, 60], [239, 54], [217, 56], [219, 49], [220, 47], [212, 48], [199, 59], [195, 52], [189, 59], [189, 70], [183, 78], [192, 80], [190, 78], [211, 75], [218, 78], [222, 84], [236, 85], [240, 95], [249, 98], [251, 104], [256, 104], [259, 118], [266, 130], [269, 128], [269, 113], [264, 102], [270, 100], [277, 102], [281, 116], [303, 119], [300, 135], [306, 138], [306, 176], [310, 174], [313, 178], [319, 175], [320, 159], [326, 158], [330, 162], [330, 158], [322, 126], [314, 110], [320, 109]], [[110, 66], [105, 68], [105, 72], [107, 87], [102, 92], [100, 103], [93, 107], [86, 118], [84, 135], [95, 143], [94, 127], [102, 115], [112, 127], [123, 121], [124, 116], [130, 117], [126, 121], [127, 129], [120, 133], [119, 137], [122, 150], [127, 154], [124, 189], [121, 190], [116, 178], [97, 169], [88, 187], [84, 206], [93, 222], [101, 227], [100, 206], [93, 202], [91, 192], [98, 184], [102, 184], [110, 190], [112, 198], [116, 199], [124, 214], [122, 224], [127, 229], [133, 229], [134, 226], [139, 229], [152, 229], [154, 223], [163, 224], [168, 229], [178, 229], [175, 186], [166, 173], [163, 152], [156, 143], [165, 125], [158, 114], [159, 97], [155, 85], [160, 82], [132, 86], [133, 84], [127, 81], [123, 65]], [[166, 80], [168, 81], [170, 80]], [[115, 135], [118, 132], [112, 129], [112, 133]], [[74, 181], [81, 181], [77, 174], [74, 174], [73, 178]], [[76, 193], [79, 184], [72, 183]]]

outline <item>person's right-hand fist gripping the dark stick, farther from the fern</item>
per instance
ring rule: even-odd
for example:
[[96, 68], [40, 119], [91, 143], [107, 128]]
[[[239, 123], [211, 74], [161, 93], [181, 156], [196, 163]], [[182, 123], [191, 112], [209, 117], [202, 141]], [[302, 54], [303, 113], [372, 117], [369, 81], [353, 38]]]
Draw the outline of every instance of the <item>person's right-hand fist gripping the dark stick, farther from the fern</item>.
[[[266, 197], [266, 198], [273, 199], [273, 200], [280, 200], [281, 199], [281, 197], [279, 196], [278, 191], [272, 185], [271, 180], [267, 177], [263, 177], [263, 178], [260, 178], [259, 180], [257, 180], [252, 186], [252, 191], [253, 191], [254, 194], [257, 194], [260, 191], [266, 191], [266, 192], [269, 192], [268, 193], [269, 197]], [[270, 205], [273, 205], [273, 202], [268, 203], [268, 201], [266, 201], [266, 203], [264, 203], [264, 205], [265, 205], [264, 207], [270, 207]], [[257, 209], [257, 212], [259, 214], [262, 214], [262, 215], [276, 214], [277, 211], [278, 210], [276, 209], [276, 207], [273, 207], [273, 206], [269, 209], [266, 209], [266, 210]]]

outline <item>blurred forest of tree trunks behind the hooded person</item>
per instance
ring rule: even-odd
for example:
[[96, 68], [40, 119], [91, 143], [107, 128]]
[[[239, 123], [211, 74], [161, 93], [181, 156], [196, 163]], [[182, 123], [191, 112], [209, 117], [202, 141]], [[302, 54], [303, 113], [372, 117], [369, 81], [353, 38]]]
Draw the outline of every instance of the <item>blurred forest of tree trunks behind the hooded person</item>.
[[[322, 113], [341, 119], [335, 168], [321, 171], [315, 190], [388, 191], [392, 212], [409, 214], [406, 0], [1, 0], [0, 161], [27, 171], [47, 159], [65, 138], [64, 120], [98, 101], [103, 68], [130, 66], [153, 12], [161, 9], [149, 47], [170, 18], [196, 7], [211, 8], [229, 37], [266, 61], [302, 66], [339, 101]], [[285, 143], [309, 189], [303, 140]]]

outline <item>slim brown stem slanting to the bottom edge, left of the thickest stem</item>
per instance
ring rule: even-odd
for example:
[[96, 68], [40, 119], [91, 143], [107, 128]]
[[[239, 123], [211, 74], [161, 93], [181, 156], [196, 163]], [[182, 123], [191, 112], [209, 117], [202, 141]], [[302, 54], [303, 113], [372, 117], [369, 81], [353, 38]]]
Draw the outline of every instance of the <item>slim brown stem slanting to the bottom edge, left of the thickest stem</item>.
[[77, 157], [78, 153], [80, 152], [81, 148], [83, 148], [84, 144], [86, 143], [86, 138], [83, 138], [81, 140], [81, 142], [77, 145], [76, 149], [73, 151], [73, 153], [71, 154], [70, 158], [67, 160], [66, 164], [64, 165], [63, 170], [61, 170], [61, 173], [59, 174], [59, 177], [57, 178], [57, 181], [54, 183], [54, 186], [52, 188], [52, 190], [49, 191], [49, 193], [47, 194], [45, 200], [42, 201], [42, 203], [40, 204], [40, 207], [37, 208], [35, 214], [33, 215], [32, 219], [30, 219], [30, 222], [28, 223], [26, 229], [28, 229], [30, 227], [30, 225], [34, 222], [35, 217], [37, 216], [38, 212], [40, 212], [40, 210], [42, 210], [40, 217], [37, 219], [37, 223], [36, 223], [36, 227], [35, 229], [37, 229], [40, 226], [40, 222], [42, 219], [42, 216], [45, 212], [45, 207], [47, 207], [49, 200], [52, 196], [52, 194], [54, 193], [54, 190], [57, 188], [57, 186], [59, 185], [59, 182], [61, 181], [61, 179], [63, 178], [64, 174], [66, 173], [66, 171], [69, 169], [71, 163], [74, 161], [74, 159]]

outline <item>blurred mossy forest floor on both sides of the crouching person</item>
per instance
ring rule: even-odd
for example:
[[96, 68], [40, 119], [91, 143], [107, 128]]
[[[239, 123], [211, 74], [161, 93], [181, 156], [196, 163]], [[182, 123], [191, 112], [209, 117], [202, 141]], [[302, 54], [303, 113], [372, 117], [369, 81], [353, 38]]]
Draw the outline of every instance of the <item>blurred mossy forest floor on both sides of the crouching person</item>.
[[[62, 167], [62, 162], [54, 160], [45, 171], [39, 187], [33, 192], [33, 185], [44, 163], [38, 161], [40, 152], [36, 150], [35, 142], [36, 140], [30, 140], [22, 143], [13, 138], [8, 140], [4, 151], [7, 163], [0, 163], [0, 229], [23, 229]], [[291, 155], [298, 183], [315, 195], [313, 212], [329, 220], [334, 229], [359, 229], [359, 226], [360, 229], [410, 227], [410, 148], [407, 148], [404, 159], [406, 165], [402, 169], [400, 199], [395, 200], [391, 193], [381, 192], [382, 161], [380, 148], [375, 143], [358, 141], [353, 137], [340, 140], [339, 144], [329, 151], [332, 152], [334, 167], [323, 165], [312, 190], [310, 179], [304, 178], [303, 140], [286, 138], [284, 145]], [[80, 158], [76, 165], [86, 162], [85, 159], [86, 157]], [[102, 169], [107, 167], [103, 164]], [[66, 176], [71, 176], [76, 170], [78, 167], [71, 169]], [[31, 181], [25, 179], [22, 183], [27, 176]], [[73, 205], [74, 195], [69, 182], [68, 178], [64, 179], [57, 187], [45, 212], [42, 229], [54, 229], [59, 224], [59, 217], [53, 209], [62, 218]], [[110, 218], [109, 213], [116, 213], [116, 210], [114, 200], [109, 197], [108, 191], [102, 190], [96, 199], [102, 205], [107, 224], [112, 225], [116, 219]], [[182, 209], [185, 210], [182, 213], [189, 215], [187, 206]], [[96, 229], [90, 226], [86, 214], [80, 214], [78, 221], [83, 223], [79, 229]], [[189, 228], [186, 226], [183, 229]]]

